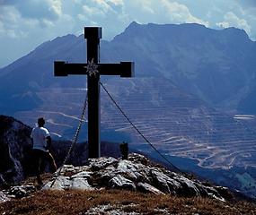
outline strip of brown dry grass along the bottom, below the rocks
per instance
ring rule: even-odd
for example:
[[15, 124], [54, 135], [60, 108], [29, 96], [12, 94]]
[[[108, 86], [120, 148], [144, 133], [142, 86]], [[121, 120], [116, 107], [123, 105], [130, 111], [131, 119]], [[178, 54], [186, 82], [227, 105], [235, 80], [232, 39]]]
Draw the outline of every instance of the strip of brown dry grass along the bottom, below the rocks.
[[39, 191], [21, 200], [1, 203], [0, 214], [82, 215], [93, 207], [108, 204], [120, 211], [140, 214], [163, 214], [163, 210], [170, 214], [256, 214], [256, 205], [249, 202], [218, 202], [119, 190]]

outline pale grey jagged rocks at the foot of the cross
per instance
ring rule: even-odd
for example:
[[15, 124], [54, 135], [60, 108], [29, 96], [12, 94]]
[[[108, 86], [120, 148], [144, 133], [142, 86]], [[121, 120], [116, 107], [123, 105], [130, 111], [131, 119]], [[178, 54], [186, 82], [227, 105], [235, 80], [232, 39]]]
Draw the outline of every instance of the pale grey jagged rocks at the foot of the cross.
[[225, 201], [231, 197], [227, 188], [207, 185], [189, 179], [155, 165], [145, 156], [133, 153], [128, 159], [99, 158], [89, 159], [82, 167], [66, 165], [53, 175], [42, 190], [99, 190], [122, 189], [143, 193], [177, 196], [212, 197]]

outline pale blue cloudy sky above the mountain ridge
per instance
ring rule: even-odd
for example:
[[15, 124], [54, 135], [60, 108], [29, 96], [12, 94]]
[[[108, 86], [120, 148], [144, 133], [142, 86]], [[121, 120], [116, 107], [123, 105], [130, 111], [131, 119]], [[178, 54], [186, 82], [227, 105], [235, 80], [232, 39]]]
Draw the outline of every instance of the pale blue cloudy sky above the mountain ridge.
[[84, 26], [112, 39], [133, 21], [233, 26], [256, 40], [256, 0], [0, 0], [0, 67]]

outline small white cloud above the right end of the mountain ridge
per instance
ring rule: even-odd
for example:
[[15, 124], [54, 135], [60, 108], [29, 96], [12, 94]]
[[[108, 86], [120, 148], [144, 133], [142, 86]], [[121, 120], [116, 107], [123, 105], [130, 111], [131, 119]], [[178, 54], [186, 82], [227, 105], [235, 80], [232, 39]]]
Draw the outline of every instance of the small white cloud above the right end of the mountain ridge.
[[224, 21], [216, 23], [221, 28], [236, 27], [245, 30], [248, 34], [251, 34], [251, 26], [243, 18], [239, 18], [233, 12], [225, 13]]

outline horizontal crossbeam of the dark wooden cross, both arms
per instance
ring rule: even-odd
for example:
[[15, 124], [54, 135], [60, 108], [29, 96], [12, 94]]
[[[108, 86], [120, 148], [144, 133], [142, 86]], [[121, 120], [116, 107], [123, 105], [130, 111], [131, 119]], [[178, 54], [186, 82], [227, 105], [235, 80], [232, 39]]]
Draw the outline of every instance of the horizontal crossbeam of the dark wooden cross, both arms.
[[[134, 76], [134, 62], [120, 62], [119, 64], [97, 64], [101, 75], [120, 75], [120, 77]], [[87, 64], [68, 64], [64, 61], [54, 62], [54, 75], [88, 74]]]

